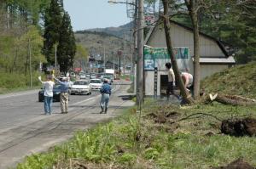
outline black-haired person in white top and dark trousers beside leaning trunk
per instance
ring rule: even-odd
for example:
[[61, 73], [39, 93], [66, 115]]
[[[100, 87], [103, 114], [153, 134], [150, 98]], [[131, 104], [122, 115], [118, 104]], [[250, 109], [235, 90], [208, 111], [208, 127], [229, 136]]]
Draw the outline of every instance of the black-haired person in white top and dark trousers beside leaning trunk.
[[179, 96], [176, 93], [174, 93], [174, 89], [173, 89], [173, 85], [175, 83], [175, 75], [172, 70], [172, 64], [170, 62], [166, 63], [166, 70], [167, 70], [167, 75], [168, 75], [168, 84], [167, 84], [167, 89], [166, 89], [167, 99], [170, 98], [171, 94], [176, 96], [177, 99], [179, 99]]

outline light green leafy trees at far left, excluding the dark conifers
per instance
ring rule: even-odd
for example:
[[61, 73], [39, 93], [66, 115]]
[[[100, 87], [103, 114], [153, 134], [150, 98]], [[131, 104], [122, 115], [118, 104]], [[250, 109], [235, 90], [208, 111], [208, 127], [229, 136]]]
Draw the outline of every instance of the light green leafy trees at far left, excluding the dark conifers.
[[[28, 72], [29, 44], [32, 68], [44, 62], [41, 21], [49, 0], [1, 1], [0, 69], [5, 72]], [[29, 42], [30, 41], [30, 42]]]

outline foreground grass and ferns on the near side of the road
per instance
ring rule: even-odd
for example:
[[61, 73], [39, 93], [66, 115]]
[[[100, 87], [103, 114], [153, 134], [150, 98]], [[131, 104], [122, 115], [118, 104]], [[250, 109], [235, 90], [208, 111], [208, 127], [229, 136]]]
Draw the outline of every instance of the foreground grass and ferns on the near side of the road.
[[[32, 155], [19, 164], [25, 168], [210, 168], [242, 157], [256, 166], [256, 139], [230, 137], [220, 132], [220, 121], [230, 117], [256, 117], [256, 106], [234, 107], [212, 103], [190, 107], [156, 104], [148, 101], [142, 116], [126, 110], [124, 115], [88, 131], [77, 132], [73, 139], [49, 149], [48, 153]], [[165, 123], [150, 115], [177, 113]], [[207, 133], [211, 132], [211, 135]]]

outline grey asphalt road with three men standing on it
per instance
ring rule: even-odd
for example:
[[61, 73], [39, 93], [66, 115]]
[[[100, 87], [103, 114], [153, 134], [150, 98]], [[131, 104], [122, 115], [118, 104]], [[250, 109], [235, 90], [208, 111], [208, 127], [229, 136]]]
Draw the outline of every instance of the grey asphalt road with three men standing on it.
[[60, 103], [53, 115], [44, 115], [38, 90], [0, 95], [0, 168], [15, 167], [26, 155], [38, 153], [67, 141], [73, 133], [108, 121], [131, 106], [125, 99], [128, 82], [114, 82], [108, 114], [99, 114], [100, 93], [71, 95], [69, 113], [61, 114]]

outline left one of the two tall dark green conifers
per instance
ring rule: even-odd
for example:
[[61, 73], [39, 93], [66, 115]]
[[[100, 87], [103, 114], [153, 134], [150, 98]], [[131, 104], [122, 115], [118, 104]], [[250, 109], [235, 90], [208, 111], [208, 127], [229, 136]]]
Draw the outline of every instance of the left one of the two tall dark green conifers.
[[44, 20], [44, 54], [49, 65], [55, 63], [55, 45], [59, 43], [63, 8], [60, 0], [51, 0]]

